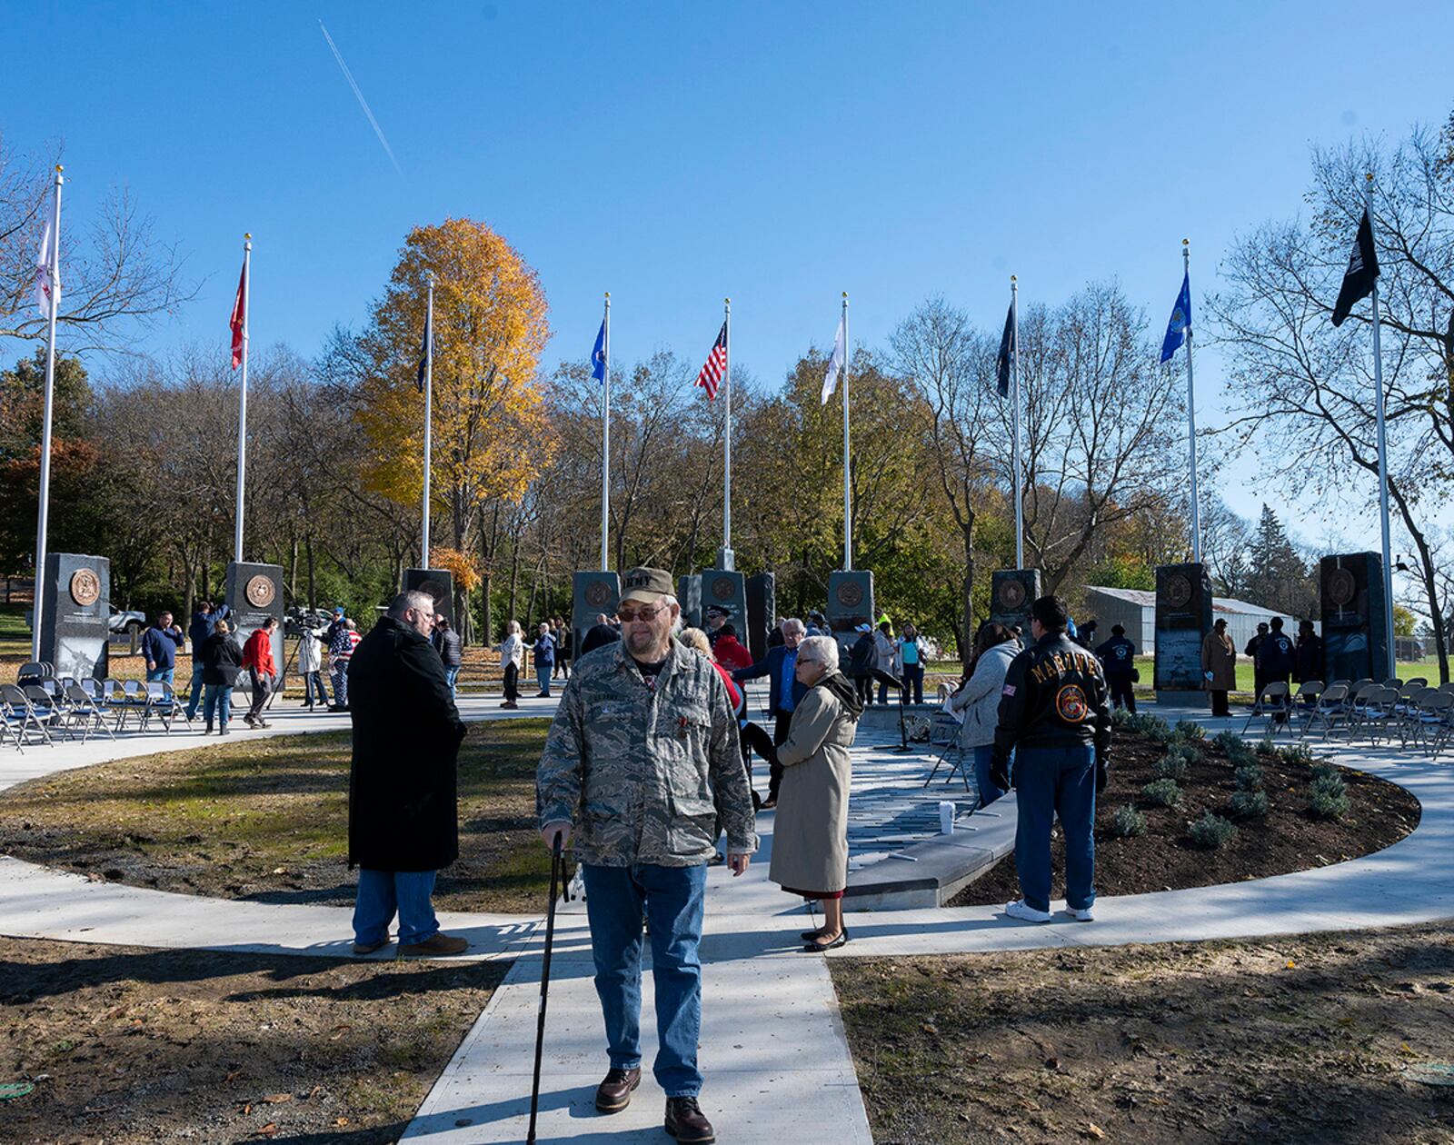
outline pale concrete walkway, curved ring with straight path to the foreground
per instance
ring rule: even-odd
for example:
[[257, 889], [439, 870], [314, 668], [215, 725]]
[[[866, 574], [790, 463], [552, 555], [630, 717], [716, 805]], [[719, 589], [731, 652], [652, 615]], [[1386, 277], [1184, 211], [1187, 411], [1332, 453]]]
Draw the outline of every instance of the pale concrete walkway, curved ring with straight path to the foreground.
[[[548, 715], [554, 702], [526, 702], [518, 713], [489, 700], [461, 703], [467, 719]], [[1240, 721], [1198, 718], [1211, 731]], [[269, 732], [343, 728], [340, 716], [284, 712]], [[859, 750], [872, 751], [875, 743]], [[106, 758], [199, 743], [126, 737], [86, 745], [0, 753], [0, 788], [19, 777]], [[215, 740], [211, 743], [217, 743]], [[236, 741], [234, 741], [236, 743]], [[887, 738], [885, 738], [887, 744]], [[1316, 747], [1316, 745], [1314, 745]], [[1391, 779], [1423, 805], [1419, 828], [1364, 859], [1252, 882], [1102, 898], [1093, 924], [1066, 915], [1045, 926], [1012, 923], [997, 907], [852, 914], [852, 942], [832, 958], [929, 955], [1051, 946], [1106, 946], [1307, 933], [1454, 917], [1454, 766], [1397, 750], [1345, 748], [1339, 763]], [[938, 798], [929, 792], [925, 798]], [[763, 853], [742, 879], [721, 867], [708, 876], [702, 943], [707, 1088], [704, 1109], [723, 1141], [769, 1136], [806, 1142], [869, 1142], [868, 1119], [838, 1017], [826, 960], [798, 952], [807, 915], [766, 882], [772, 817], [762, 817]], [[474, 958], [512, 958], [512, 969], [430, 1091], [406, 1139], [522, 1141], [539, 992], [541, 918], [442, 915], [471, 939]], [[95, 883], [15, 859], [0, 859], [0, 931], [13, 936], [163, 947], [349, 955], [348, 921], [337, 907], [289, 907], [201, 899]], [[650, 975], [643, 982], [647, 1077], [631, 1107], [605, 1119], [592, 1093], [603, 1072], [599, 1008], [590, 979], [582, 904], [557, 915], [550, 1024], [541, 1099], [541, 1141], [663, 1141], [662, 1094], [650, 1080], [656, 1032]]]

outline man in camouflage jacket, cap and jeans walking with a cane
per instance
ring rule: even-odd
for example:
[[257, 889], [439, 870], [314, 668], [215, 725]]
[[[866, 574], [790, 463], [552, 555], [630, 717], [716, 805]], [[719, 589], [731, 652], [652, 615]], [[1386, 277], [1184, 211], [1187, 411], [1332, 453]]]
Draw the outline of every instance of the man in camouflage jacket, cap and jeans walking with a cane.
[[547, 846], [574, 828], [611, 1068], [596, 1107], [622, 1110], [641, 1081], [641, 918], [650, 924], [666, 1129], [712, 1141], [696, 1104], [702, 908], [718, 822], [733, 875], [758, 849], [752, 795], [727, 689], [672, 639], [669, 572], [622, 577], [622, 639], [586, 654], [561, 695], [537, 776]]

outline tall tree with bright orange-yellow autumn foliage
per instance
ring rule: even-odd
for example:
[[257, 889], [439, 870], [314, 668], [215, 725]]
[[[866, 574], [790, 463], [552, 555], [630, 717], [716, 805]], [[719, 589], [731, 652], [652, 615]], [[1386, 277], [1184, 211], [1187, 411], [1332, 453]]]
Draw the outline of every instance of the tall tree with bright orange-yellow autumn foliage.
[[435, 276], [430, 520], [457, 551], [491, 498], [518, 501], [550, 461], [535, 371], [550, 337], [535, 270], [474, 219], [416, 227], [404, 240], [361, 347], [371, 363], [355, 417], [368, 439], [365, 485], [401, 506], [425, 481], [425, 395], [416, 387], [429, 275]]

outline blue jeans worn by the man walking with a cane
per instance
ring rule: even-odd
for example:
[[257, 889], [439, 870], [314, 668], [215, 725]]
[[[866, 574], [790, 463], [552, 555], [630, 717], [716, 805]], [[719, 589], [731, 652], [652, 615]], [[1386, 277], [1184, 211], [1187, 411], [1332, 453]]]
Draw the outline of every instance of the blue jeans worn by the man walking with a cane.
[[615, 1069], [641, 1065], [641, 911], [651, 926], [657, 1055], [653, 1072], [667, 1097], [696, 1097], [696, 1039], [702, 1027], [705, 866], [587, 866], [586, 915], [596, 960], [596, 994]]

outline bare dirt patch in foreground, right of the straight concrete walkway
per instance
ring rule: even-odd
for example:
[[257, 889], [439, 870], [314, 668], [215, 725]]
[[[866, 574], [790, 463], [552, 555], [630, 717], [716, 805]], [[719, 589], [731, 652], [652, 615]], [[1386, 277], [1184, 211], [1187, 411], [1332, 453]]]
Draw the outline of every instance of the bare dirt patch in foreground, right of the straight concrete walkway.
[[878, 1145], [1454, 1142], [1451, 923], [829, 966]]

